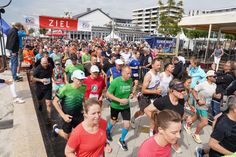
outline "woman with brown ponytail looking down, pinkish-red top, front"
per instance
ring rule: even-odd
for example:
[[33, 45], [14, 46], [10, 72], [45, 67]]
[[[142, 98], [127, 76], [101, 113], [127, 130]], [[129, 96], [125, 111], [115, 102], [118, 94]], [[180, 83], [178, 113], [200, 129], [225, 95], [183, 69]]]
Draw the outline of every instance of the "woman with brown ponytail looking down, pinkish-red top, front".
[[170, 157], [171, 145], [180, 138], [181, 116], [172, 110], [154, 112], [154, 128], [158, 132], [142, 143], [138, 157]]

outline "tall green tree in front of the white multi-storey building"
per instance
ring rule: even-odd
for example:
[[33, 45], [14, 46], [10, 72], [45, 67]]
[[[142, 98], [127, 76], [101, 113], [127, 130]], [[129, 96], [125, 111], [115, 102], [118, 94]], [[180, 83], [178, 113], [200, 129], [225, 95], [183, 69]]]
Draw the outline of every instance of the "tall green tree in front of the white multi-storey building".
[[[181, 28], [178, 26], [181, 18], [183, 17], [183, 1], [180, 0], [177, 4], [174, 0], [168, 0], [167, 4], [164, 5], [162, 0], [158, 1], [160, 6], [160, 23], [158, 32], [167, 36], [176, 36]], [[173, 12], [175, 11], [175, 13]], [[172, 16], [174, 13], [174, 16]]]

